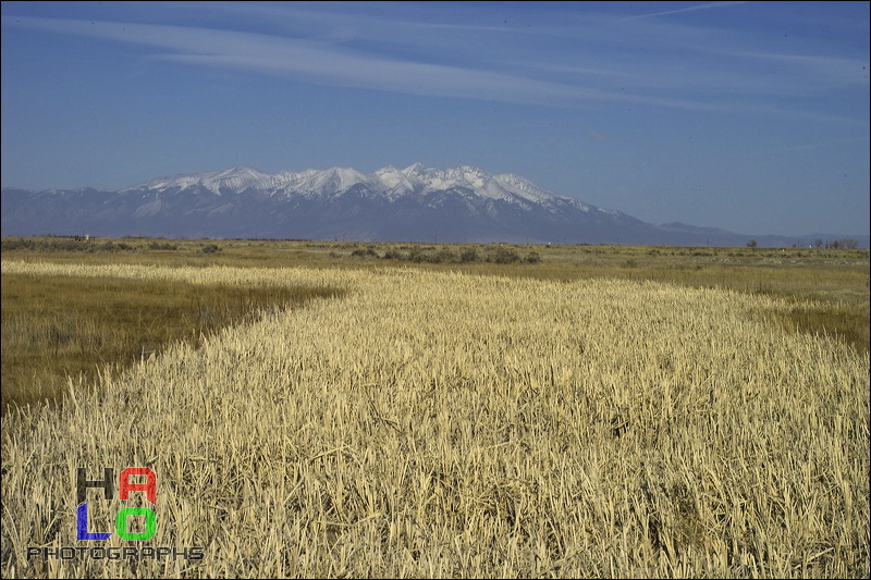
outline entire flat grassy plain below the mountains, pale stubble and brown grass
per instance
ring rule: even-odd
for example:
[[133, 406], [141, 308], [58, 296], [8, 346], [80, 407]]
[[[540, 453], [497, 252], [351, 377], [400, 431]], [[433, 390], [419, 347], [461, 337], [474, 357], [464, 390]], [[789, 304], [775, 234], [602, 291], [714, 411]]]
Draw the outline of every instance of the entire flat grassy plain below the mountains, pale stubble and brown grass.
[[[868, 275], [861, 249], [4, 238], [3, 576], [868, 577]], [[28, 559], [82, 544], [76, 468], [105, 466], [157, 473], [146, 543], [204, 558]]]

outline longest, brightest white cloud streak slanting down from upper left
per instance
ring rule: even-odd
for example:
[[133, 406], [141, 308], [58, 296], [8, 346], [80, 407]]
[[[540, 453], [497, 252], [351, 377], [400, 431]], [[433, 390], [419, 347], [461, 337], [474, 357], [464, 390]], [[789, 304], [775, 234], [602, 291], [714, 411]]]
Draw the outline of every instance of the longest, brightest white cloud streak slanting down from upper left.
[[289, 74], [333, 86], [551, 107], [619, 101], [703, 111], [726, 110], [720, 104], [691, 100], [622, 94], [470, 67], [400, 61], [351, 52], [331, 44], [270, 35], [54, 18], [21, 17], [15, 18], [15, 24], [181, 51], [154, 55], [152, 59], [157, 60]]

